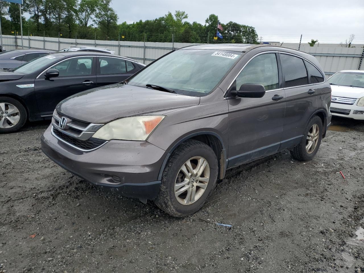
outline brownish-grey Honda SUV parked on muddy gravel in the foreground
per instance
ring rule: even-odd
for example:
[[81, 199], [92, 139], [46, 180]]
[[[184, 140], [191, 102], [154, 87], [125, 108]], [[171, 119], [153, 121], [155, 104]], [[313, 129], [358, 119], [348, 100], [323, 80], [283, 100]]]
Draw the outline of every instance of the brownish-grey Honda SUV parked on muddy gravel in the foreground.
[[60, 102], [42, 150], [95, 185], [183, 217], [232, 167], [289, 149], [309, 161], [331, 123], [331, 88], [309, 54], [198, 45]]

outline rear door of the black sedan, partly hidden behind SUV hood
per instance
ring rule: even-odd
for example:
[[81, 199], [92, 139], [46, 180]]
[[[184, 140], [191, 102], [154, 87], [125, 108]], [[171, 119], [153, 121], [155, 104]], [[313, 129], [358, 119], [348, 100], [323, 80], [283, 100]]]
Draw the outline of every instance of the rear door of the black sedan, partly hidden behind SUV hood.
[[119, 83], [129, 78], [139, 67], [129, 60], [117, 57], [98, 57], [97, 86]]

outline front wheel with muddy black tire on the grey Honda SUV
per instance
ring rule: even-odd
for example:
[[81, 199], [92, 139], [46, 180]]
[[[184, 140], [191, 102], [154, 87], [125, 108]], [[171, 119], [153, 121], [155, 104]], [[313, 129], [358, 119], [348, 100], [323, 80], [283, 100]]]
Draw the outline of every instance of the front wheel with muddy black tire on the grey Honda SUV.
[[[203, 160], [207, 162], [205, 167], [203, 167]], [[188, 170], [187, 165], [185, 165], [187, 161], [190, 162], [190, 167], [193, 168], [194, 173], [196, 170], [198, 172], [199, 165], [202, 166], [198, 172], [201, 173], [203, 169], [201, 175], [195, 174], [195, 176], [192, 175], [192, 177], [187, 178], [186, 171], [192, 173], [192, 171]], [[160, 209], [174, 217], [186, 217], [195, 213], [201, 209], [216, 185], [218, 173], [217, 164], [216, 155], [210, 146], [193, 139], [183, 142], [173, 151], [166, 164], [162, 174], [161, 189], [154, 203]], [[181, 170], [183, 167], [185, 167], [184, 172]], [[187, 180], [190, 182], [187, 183]], [[202, 180], [208, 181], [206, 183]], [[185, 185], [181, 186], [182, 184]], [[179, 194], [178, 197], [175, 194], [175, 185], [176, 189], [181, 191], [181, 193], [176, 193]], [[203, 187], [200, 187], [200, 185]], [[189, 189], [191, 192], [190, 197], [188, 195]], [[195, 198], [192, 198], [193, 192], [195, 192]], [[183, 204], [184, 202], [187, 204]]]

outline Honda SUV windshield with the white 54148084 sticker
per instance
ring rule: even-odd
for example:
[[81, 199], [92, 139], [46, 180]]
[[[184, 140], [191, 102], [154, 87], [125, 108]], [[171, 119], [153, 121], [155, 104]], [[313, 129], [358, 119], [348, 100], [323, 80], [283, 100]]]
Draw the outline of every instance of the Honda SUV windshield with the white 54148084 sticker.
[[240, 52], [216, 50], [177, 50], [151, 64], [128, 80], [145, 87], [162, 86], [178, 94], [205, 96], [238, 61]]

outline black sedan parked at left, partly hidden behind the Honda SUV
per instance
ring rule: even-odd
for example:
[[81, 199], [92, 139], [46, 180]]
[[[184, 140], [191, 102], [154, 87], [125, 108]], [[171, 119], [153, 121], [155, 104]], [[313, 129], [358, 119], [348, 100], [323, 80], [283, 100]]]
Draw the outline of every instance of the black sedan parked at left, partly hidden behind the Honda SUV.
[[118, 83], [145, 65], [98, 52], [57, 52], [0, 72], [0, 133], [19, 130], [27, 120], [51, 118], [68, 96]]

